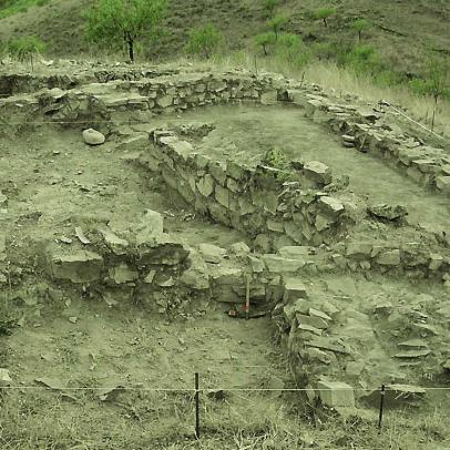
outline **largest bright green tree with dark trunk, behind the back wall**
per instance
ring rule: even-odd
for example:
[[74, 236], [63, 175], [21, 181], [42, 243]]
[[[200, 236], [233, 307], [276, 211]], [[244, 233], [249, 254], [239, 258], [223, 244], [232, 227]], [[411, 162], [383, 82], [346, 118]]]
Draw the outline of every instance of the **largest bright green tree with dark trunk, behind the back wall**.
[[125, 44], [134, 61], [135, 42], [155, 37], [167, 0], [99, 0], [88, 12], [86, 39], [105, 47]]

